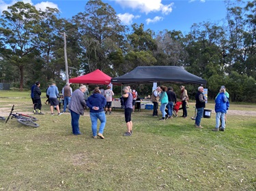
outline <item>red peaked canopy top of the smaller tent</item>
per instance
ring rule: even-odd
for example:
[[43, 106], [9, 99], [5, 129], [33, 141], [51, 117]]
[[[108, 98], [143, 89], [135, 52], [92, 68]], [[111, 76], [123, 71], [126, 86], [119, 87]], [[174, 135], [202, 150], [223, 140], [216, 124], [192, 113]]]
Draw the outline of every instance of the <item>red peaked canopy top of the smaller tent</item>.
[[74, 77], [70, 79], [70, 83], [74, 84], [110, 84], [111, 77], [106, 75], [106, 73], [96, 69], [91, 73], [81, 75], [79, 77]]

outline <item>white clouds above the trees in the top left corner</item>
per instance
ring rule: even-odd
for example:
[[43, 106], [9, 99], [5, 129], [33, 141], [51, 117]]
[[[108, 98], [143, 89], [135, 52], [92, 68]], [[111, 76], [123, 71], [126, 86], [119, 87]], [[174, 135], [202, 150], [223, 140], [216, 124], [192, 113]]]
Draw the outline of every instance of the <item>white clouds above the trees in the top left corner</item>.
[[[8, 10], [8, 7], [14, 5], [16, 2], [18, 2], [18, 1], [14, 0], [14, 1], [10, 2], [10, 3], [5, 3], [5, 1], [0, 0], [0, 15], [2, 14], [2, 12], [4, 10]], [[23, 2], [24, 3], [30, 3], [31, 5], [34, 5], [31, 0], [23, 0]], [[35, 6], [35, 8], [37, 10], [41, 9], [42, 11], [46, 10], [46, 7], [57, 8], [59, 10], [57, 4], [51, 3], [49, 1], [42, 1], [41, 3], [37, 3], [34, 6]]]

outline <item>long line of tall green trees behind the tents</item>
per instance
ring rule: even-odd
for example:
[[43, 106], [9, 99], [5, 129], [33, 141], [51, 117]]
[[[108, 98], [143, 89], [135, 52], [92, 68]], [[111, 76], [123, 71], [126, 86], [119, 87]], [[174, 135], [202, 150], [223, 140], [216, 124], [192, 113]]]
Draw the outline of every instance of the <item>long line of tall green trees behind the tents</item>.
[[226, 7], [225, 24], [195, 23], [184, 35], [137, 23], [129, 29], [100, 0], [88, 1], [71, 19], [18, 1], [0, 19], [0, 80], [20, 90], [38, 80], [42, 87], [51, 80], [64, 84], [65, 32], [70, 77], [96, 69], [117, 77], [137, 66], [173, 65], [207, 80], [209, 99], [225, 85], [231, 101], [256, 102], [256, 1], [226, 1]]

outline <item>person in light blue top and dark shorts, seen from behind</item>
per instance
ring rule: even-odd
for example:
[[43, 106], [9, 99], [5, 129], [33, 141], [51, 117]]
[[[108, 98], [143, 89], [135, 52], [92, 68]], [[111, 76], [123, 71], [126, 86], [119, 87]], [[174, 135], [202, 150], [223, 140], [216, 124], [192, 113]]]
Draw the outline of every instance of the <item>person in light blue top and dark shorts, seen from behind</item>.
[[49, 101], [50, 101], [50, 108], [51, 108], [51, 115], [53, 116], [54, 114], [53, 114], [53, 107], [54, 106], [56, 106], [56, 109], [57, 109], [57, 111], [58, 111], [58, 116], [60, 116], [61, 114], [63, 114], [63, 113], [61, 113], [60, 111], [59, 111], [59, 101], [58, 101], [58, 99], [57, 99], [57, 97], [59, 97], [59, 90], [58, 90], [58, 88], [57, 88], [57, 86], [56, 86], [56, 84], [53, 82], [52, 84], [51, 84], [51, 86], [48, 88], [48, 90], [47, 90], [47, 94], [49, 95]]

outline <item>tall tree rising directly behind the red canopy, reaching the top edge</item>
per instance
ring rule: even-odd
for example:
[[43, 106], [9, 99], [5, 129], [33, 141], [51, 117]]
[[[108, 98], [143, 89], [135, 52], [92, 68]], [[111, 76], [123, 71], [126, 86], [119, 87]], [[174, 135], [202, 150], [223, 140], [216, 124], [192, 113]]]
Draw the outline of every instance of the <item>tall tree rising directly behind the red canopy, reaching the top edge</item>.
[[113, 7], [100, 0], [90, 0], [85, 5], [85, 12], [80, 12], [72, 20], [78, 26], [79, 44], [86, 58], [83, 68], [105, 71], [113, 67], [109, 56], [123, 48], [126, 31]]

